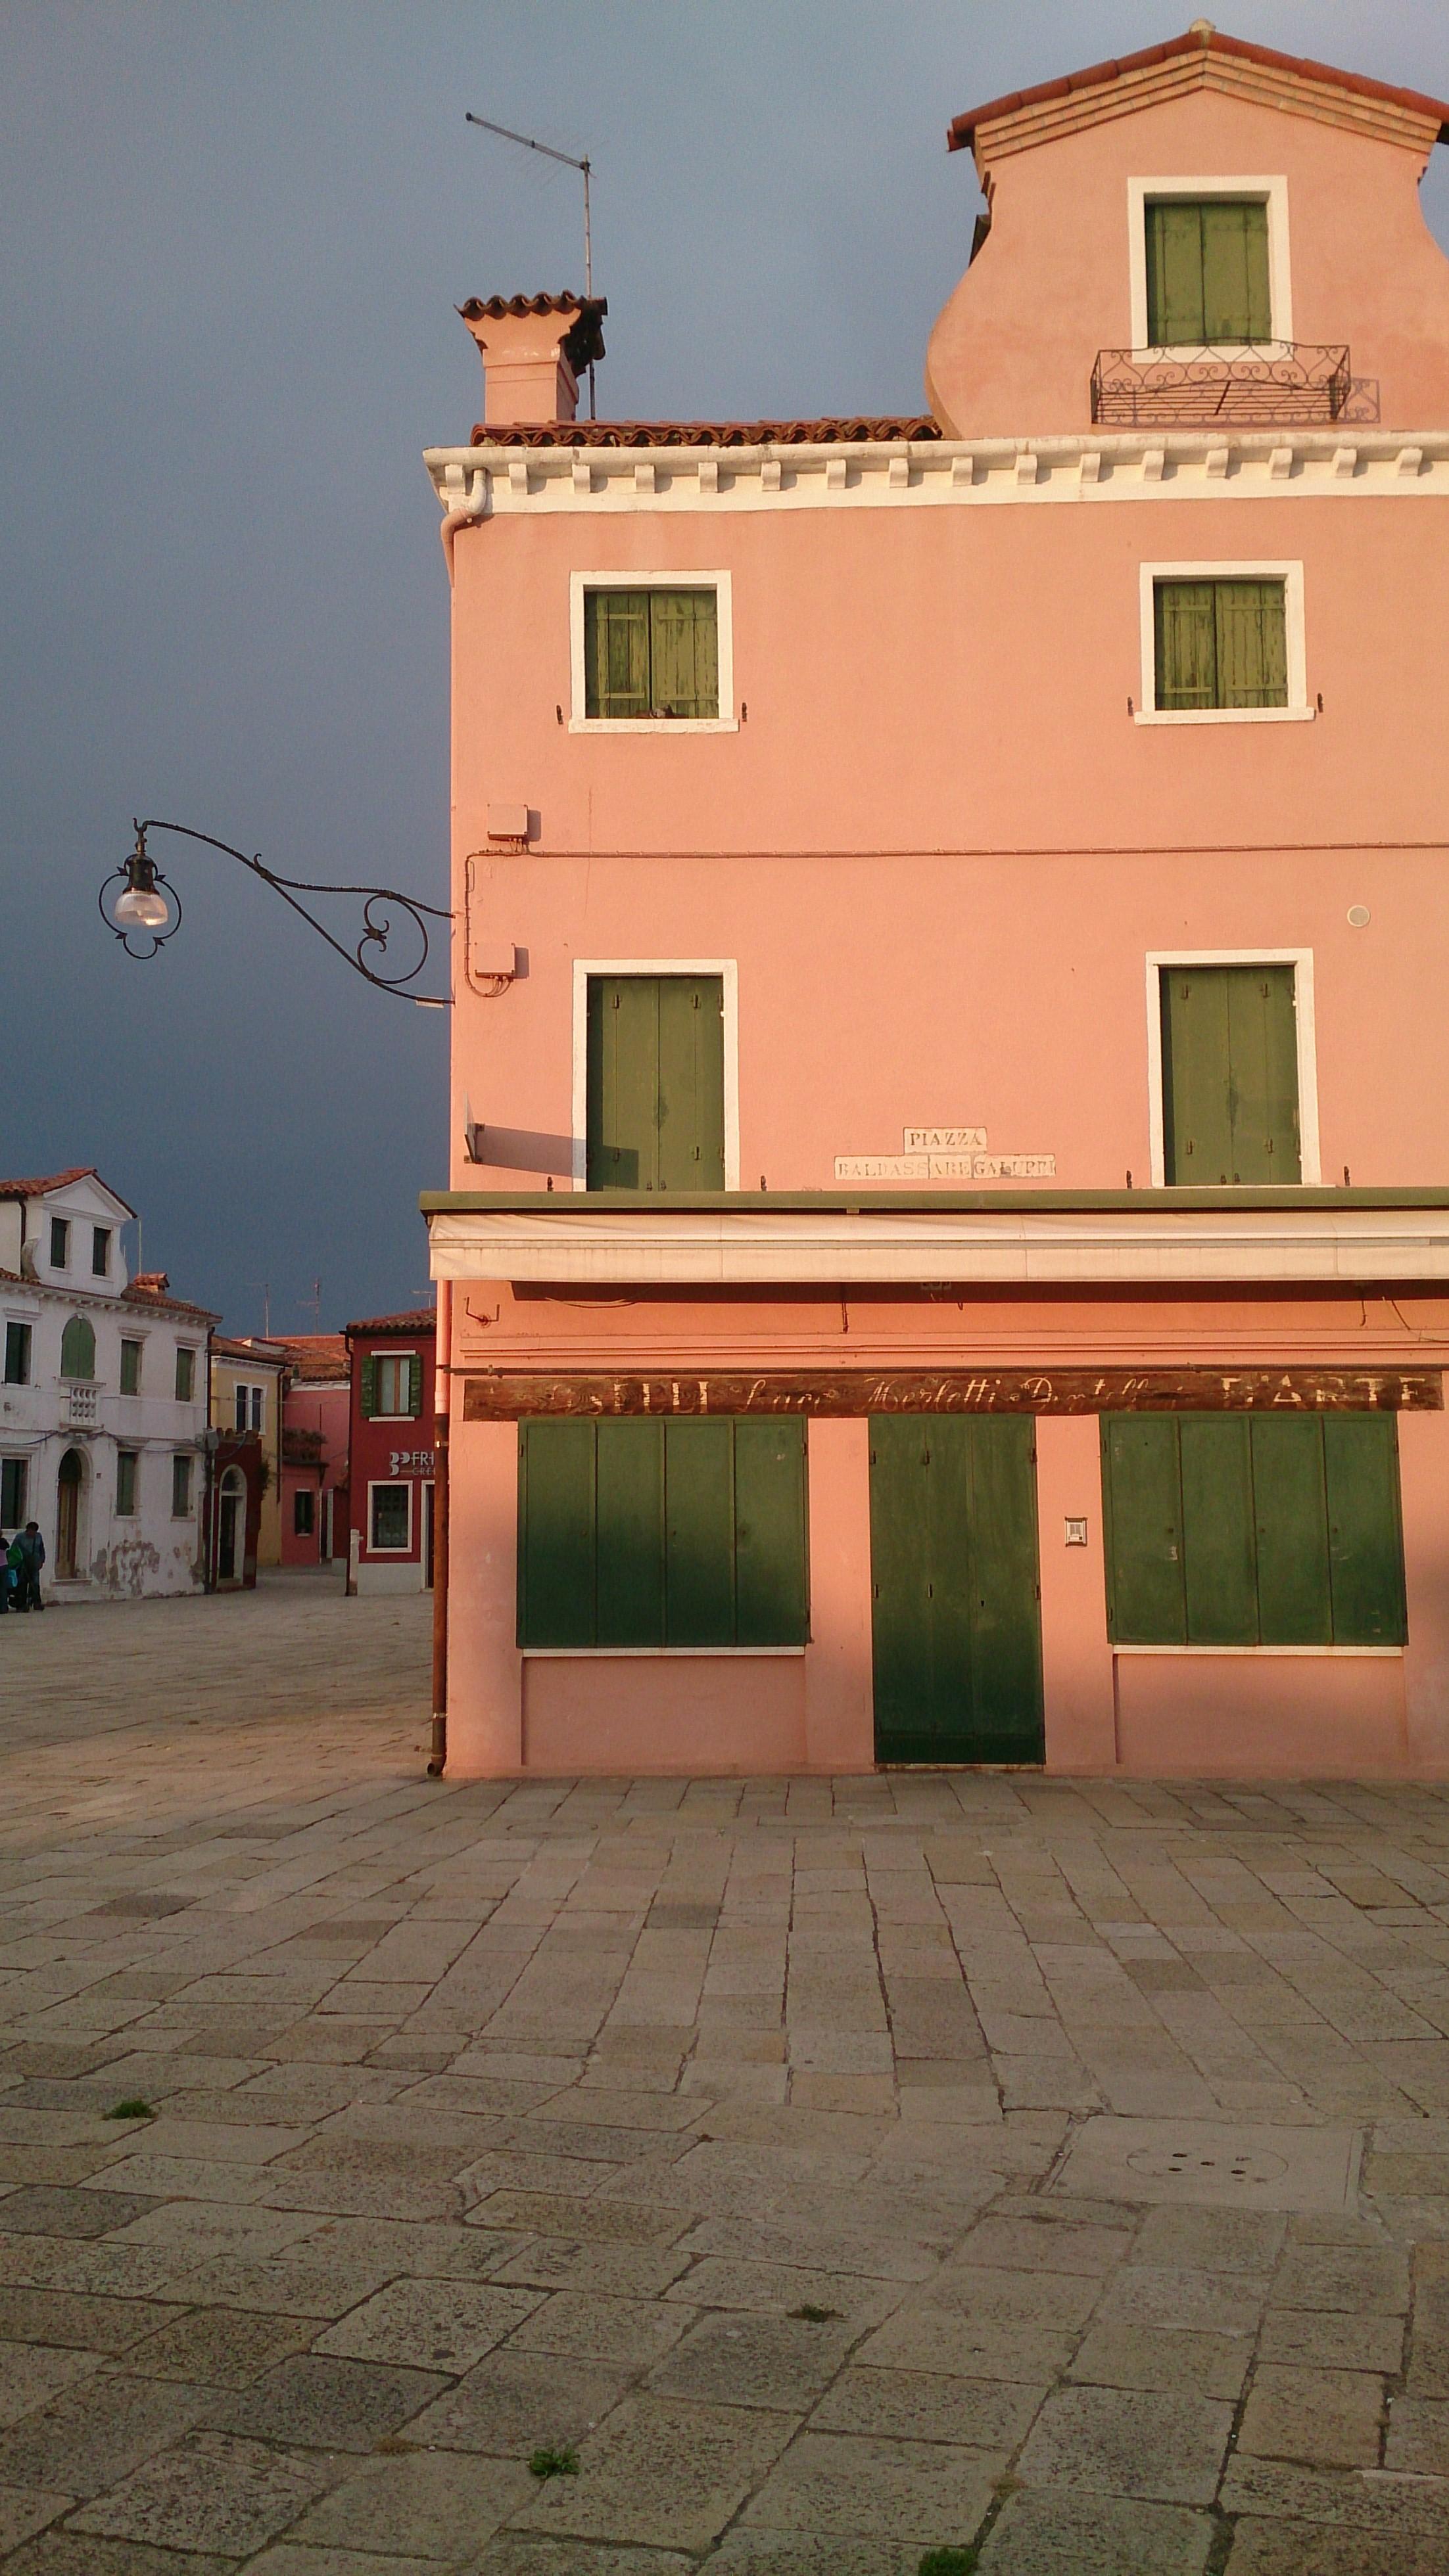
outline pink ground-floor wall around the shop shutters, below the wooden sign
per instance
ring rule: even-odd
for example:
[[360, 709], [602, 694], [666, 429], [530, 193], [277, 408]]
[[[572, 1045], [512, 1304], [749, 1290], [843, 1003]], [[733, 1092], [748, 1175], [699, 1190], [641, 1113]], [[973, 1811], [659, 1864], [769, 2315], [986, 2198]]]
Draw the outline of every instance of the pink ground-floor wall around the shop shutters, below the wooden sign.
[[[1036, 1425], [1047, 1770], [1449, 1775], [1449, 1414], [1400, 1417], [1405, 1654], [1116, 1654], [1093, 1417]], [[451, 1445], [449, 1777], [864, 1772], [874, 1762], [869, 1425], [810, 1422], [810, 1631], [781, 1656], [523, 1656], [518, 1435]], [[1088, 1546], [1065, 1546], [1085, 1517]]]

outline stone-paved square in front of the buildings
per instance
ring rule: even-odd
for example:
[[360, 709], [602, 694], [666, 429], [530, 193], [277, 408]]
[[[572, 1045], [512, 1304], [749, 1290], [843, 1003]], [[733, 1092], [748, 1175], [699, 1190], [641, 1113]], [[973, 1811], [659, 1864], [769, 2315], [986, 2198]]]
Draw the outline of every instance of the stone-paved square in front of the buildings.
[[3, 1643], [5, 2576], [1449, 2563], [1449, 1790], [459, 1788], [423, 1600]]

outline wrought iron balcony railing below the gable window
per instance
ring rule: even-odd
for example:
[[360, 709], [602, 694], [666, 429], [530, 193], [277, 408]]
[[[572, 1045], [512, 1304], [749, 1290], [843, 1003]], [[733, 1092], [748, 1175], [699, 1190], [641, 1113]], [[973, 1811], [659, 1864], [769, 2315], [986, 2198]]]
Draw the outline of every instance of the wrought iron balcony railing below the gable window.
[[1346, 348], [1104, 348], [1091, 371], [1091, 417], [1104, 430], [1325, 428], [1377, 420], [1379, 389], [1354, 376]]

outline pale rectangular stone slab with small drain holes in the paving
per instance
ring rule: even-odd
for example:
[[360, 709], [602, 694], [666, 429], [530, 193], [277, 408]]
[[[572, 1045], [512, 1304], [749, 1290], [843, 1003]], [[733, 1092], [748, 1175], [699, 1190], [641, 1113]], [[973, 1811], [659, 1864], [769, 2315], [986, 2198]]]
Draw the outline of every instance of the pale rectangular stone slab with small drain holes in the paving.
[[1240, 2128], [1225, 2120], [1085, 2120], [1057, 2192], [1183, 2200], [1222, 2210], [1348, 2210], [1359, 2187], [1354, 2128]]

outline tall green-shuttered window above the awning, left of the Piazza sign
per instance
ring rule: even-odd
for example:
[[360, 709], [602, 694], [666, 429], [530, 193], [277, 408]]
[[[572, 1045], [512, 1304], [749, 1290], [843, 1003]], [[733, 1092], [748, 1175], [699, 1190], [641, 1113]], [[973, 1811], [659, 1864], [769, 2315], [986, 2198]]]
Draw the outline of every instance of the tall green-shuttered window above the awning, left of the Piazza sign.
[[588, 1188], [724, 1188], [717, 974], [588, 979]]

